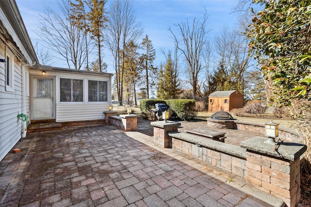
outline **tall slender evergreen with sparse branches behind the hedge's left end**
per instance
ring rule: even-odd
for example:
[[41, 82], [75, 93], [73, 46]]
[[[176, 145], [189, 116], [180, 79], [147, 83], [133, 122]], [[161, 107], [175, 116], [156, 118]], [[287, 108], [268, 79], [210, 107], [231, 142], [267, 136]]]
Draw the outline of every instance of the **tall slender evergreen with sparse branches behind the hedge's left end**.
[[142, 54], [142, 67], [145, 69], [146, 73], [146, 87], [147, 87], [147, 98], [149, 98], [149, 75], [156, 73], [156, 68], [153, 66], [153, 62], [155, 60], [155, 49], [152, 45], [152, 41], [146, 37], [142, 39], [142, 49], [145, 53]]

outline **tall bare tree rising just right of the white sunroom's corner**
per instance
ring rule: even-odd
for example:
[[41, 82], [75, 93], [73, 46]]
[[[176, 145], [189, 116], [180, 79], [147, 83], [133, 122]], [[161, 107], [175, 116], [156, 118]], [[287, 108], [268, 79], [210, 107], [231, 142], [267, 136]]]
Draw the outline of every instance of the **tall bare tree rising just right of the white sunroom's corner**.
[[136, 22], [133, 4], [130, 0], [115, 0], [108, 12], [108, 25], [105, 30], [105, 43], [114, 58], [116, 87], [119, 103], [123, 99], [124, 48], [131, 40], [136, 43], [143, 29]]

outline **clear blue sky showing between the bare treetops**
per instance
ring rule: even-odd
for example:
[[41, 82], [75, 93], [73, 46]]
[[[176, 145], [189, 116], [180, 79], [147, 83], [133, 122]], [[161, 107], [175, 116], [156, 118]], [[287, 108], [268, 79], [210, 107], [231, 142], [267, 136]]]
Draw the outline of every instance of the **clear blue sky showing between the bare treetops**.
[[[39, 39], [36, 30], [38, 30], [39, 14], [44, 13], [44, 7], [50, 7], [58, 10], [57, 0], [16, 0], [19, 12], [24, 20], [30, 38], [33, 43]], [[107, 9], [112, 0], [107, 1]], [[148, 34], [156, 49], [155, 65], [163, 62], [163, 55], [160, 49], [173, 49], [173, 40], [171, 32], [168, 29], [174, 29], [174, 24], [190, 21], [194, 17], [200, 19], [206, 8], [208, 19], [207, 27], [212, 40], [222, 27], [237, 27], [237, 16], [231, 14], [236, 0], [132, 0], [136, 10], [136, 19], [141, 22], [144, 28], [144, 34]], [[141, 38], [141, 39], [142, 39]], [[107, 72], [113, 73], [112, 57], [109, 51], [104, 51], [104, 62], [108, 64]], [[66, 67], [66, 64], [57, 62], [52, 66]]]

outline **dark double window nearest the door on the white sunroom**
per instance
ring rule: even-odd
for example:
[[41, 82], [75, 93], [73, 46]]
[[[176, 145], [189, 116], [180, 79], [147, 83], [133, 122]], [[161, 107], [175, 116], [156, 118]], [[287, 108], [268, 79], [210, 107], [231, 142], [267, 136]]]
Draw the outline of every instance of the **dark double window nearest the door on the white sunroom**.
[[83, 102], [83, 80], [60, 79], [60, 102]]

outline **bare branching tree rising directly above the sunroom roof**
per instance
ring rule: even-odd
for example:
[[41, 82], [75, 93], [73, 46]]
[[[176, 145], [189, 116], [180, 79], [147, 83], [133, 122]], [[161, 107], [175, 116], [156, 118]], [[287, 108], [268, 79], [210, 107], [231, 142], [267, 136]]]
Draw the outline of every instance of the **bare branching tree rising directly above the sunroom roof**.
[[39, 36], [46, 43], [46, 48], [67, 62], [69, 69], [80, 70], [86, 59], [85, 32], [70, 19], [72, 10], [69, 1], [58, 2], [58, 7], [60, 12], [46, 7], [39, 23]]

